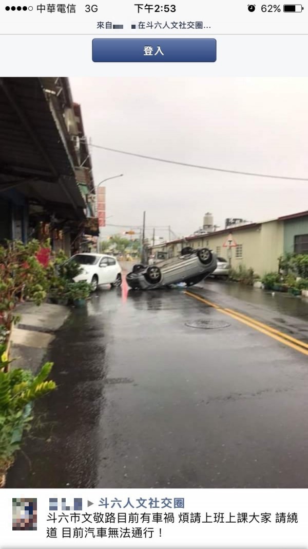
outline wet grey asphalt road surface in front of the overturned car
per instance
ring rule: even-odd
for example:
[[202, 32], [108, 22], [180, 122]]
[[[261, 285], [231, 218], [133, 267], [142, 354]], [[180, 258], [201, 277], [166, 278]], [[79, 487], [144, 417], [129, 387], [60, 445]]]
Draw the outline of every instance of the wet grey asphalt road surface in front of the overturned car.
[[[295, 318], [263, 293], [193, 291], [308, 334], [308, 304]], [[198, 320], [229, 326], [186, 326]], [[307, 356], [179, 289], [99, 290], [47, 358], [59, 388], [8, 488], [308, 487]]]

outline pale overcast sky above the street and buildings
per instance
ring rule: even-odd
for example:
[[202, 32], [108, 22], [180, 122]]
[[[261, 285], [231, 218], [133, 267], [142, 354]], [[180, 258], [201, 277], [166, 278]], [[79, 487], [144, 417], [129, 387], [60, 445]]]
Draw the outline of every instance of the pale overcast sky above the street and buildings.
[[[95, 145], [230, 170], [308, 177], [308, 79], [70, 79]], [[307, 182], [210, 172], [92, 149], [107, 223], [191, 234], [209, 211], [262, 221], [308, 209]], [[121, 229], [107, 227], [104, 234]], [[157, 229], [157, 236], [168, 232]]]

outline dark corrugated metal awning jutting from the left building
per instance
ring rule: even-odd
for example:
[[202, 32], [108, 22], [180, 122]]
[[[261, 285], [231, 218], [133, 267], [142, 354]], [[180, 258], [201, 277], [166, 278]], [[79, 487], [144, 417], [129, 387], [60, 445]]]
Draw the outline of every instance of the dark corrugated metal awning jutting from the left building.
[[72, 159], [38, 78], [0, 79], [0, 193], [5, 188], [85, 217]]

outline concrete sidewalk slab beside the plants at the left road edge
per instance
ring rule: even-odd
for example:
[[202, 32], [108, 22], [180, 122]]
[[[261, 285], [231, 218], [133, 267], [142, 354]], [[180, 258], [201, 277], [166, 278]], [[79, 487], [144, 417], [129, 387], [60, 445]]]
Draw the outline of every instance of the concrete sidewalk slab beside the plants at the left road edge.
[[12, 331], [10, 356], [16, 360], [14, 368], [28, 368], [36, 372], [41, 366], [47, 348], [55, 338], [55, 332], [70, 315], [70, 309], [62, 305], [30, 302], [20, 304], [16, 314], [21, 320]]

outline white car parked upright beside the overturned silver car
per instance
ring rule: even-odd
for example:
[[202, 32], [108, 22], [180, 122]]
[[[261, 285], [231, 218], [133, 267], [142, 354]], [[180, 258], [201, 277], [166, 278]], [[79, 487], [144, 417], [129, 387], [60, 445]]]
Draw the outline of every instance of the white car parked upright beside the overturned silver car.
[[69, 261], [76, 261], [82, 267], [74, 281], [89, 282], [93, 291], [101, 284], [111, 284], [112, 287], [122, 284], [122, 269], [111, 255], [82, 253], [73, 255]]

